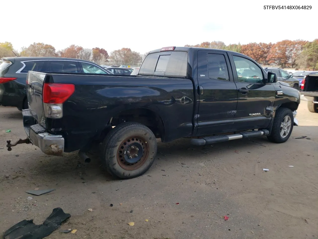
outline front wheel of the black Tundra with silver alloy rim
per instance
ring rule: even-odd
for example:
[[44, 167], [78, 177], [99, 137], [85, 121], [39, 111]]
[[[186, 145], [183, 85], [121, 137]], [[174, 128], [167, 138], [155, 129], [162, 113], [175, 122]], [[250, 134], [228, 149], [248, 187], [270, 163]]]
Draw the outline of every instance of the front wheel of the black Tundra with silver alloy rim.
[[[289, 124], [287, 123], [287, 125], [283, 126], [282, 124], [284, 122], [286, 122], [285, 121], [286, 119], [289, 121]], [[285, 131], [284, 128], [283, 128], [285, 126], [286, 126], [286, 130], [287, 131], [289, 129], [288, 132]], [[288, 108], [284, 108], [284, 107], [278, 108], [278, 110], [275, 113], [275, 118], [274, 118], [274, 122], [273, 122], [272, 132], [271, 132], [270, 135], [267, 136], [267, 139], [269, 141], [271, 141], [271, 142], [274, 142], [274, 143], [286, 142], [289, 139], [289, 136], [290, 136], [290, 134], [293, 131], [293, 126], [294, 126], [294, 115], [293, 115], [293, 112], [290, 109], [288, 109]], [[284, 131], [283, 135], [281, 135], [281, 130]]]

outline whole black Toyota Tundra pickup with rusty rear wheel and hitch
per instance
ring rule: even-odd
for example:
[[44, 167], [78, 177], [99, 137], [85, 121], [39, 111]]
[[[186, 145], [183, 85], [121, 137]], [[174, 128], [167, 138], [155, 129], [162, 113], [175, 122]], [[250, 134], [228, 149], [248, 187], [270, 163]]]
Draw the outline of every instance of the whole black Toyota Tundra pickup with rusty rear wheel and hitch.
[[101, 143], [107, 171], [120, 178], [145, 173], [157, 140], [190, 138], [194, 145], [266, 135], [288, 140], [300, 103], [296, 89], [277, 82], [236, 52], [164, 47], [149, 52], [136, 76], [85, 73], [27, 75], [27, 138], [45, 154], [82, 155]]

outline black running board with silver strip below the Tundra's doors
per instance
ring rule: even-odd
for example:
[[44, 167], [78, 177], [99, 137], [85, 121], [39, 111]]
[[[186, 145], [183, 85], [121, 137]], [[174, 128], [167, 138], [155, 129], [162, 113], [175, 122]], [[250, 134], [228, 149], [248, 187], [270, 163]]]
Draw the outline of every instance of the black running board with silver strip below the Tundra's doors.
[[258, 137], [261, 135], [268, 135], [268, 134], [269, 134], [269, 131], [266, 129], [258, 130], [258, 131], [245, 131], [245, 132], [241, 132], [240, 134], [216, 135], [216, 136], [204, 137], [201, 139], [191, 139], [191, 144], [200, 146], [205, 144], [225, 142], [225, 141], [234, 140], [234, 139], [247, 139], [247, 138]]

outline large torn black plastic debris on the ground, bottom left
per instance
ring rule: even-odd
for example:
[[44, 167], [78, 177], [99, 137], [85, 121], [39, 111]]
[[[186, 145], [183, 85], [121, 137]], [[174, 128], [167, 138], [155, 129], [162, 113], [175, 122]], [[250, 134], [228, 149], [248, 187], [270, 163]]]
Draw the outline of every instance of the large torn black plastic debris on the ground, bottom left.
[[71, 214], [64, 213], [62, 208], [54, 208], [51, 215], [46, 218], [42, 225], [35, 225], [32, 220], [23, 220], [9, 228], [3, 234], [4, 239], [41, 239], [50, 235], [59, 228], [61, 223]]

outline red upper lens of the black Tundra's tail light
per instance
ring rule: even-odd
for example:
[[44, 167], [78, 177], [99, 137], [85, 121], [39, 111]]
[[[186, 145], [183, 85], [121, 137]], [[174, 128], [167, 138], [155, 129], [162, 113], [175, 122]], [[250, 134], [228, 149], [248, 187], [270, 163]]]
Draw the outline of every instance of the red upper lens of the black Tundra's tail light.
[[63, 104], [75, 91], [73, 84], [44, 83], [43, 103]]

